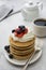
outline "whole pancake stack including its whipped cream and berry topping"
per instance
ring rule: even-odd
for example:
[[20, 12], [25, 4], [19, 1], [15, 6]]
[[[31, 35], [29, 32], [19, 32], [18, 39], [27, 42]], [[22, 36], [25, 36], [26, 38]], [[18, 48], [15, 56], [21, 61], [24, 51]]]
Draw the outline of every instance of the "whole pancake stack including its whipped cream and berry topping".
[[25, 28], [25, 26], [19, 27], [13, 30], [14, 33], [9, 38], [10, 54], [12, 54], [15, 59], [24, 60], [32, 56], [35, 51], [35, 36], [32, 31]]

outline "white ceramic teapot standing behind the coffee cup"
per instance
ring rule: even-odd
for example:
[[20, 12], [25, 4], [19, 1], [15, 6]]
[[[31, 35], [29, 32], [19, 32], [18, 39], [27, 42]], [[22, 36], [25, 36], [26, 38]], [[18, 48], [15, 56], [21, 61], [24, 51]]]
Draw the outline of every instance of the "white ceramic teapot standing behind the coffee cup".
[[25, 20], [34, 20], [36, 17], [40, 16], [40, 12], [43, 9], [42, 2], [31, 2], [29, 1], [26, 3], [21, 10], [21, 14]]

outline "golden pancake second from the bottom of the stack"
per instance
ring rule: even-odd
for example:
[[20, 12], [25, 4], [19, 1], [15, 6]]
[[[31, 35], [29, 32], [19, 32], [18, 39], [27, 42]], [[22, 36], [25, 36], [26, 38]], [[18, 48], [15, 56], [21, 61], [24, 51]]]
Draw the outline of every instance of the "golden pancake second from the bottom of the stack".
[[11, 53], [15, 53], [16, 55], [28, 55], [34, 50], [34, 47], [26, 50], [26, 51], [17, 51], [11, 46], [10, 50], [11, 50]]

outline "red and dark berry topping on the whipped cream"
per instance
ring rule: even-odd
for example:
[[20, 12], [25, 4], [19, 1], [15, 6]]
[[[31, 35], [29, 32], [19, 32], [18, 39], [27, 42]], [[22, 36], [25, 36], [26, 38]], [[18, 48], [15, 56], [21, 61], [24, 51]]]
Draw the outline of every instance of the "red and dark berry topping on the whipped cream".
[[24, 34], [28, 32], [28, 29], [25, 26], [18, 26], [18, 28], [13, 30], [13, 32], [16, 37], [21, 38]]

